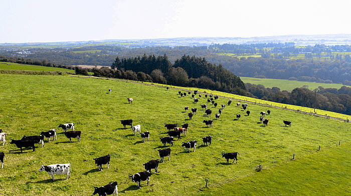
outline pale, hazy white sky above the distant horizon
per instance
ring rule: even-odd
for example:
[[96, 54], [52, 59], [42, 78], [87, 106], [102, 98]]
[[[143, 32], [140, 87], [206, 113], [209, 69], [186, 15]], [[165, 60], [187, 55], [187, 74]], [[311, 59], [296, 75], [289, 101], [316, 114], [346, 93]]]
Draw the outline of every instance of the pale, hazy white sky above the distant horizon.
[[351, 33], [351, 0], [0, 0], [0, 43]]

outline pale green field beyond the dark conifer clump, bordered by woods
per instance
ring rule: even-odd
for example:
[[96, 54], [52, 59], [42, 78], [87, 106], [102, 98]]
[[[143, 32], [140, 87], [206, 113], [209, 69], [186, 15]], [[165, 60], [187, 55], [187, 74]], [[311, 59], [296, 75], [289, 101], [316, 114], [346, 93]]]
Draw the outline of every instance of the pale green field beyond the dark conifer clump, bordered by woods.
[[[279, 87], [280, 90], [293, 90], [297, 87], [302, 87], [303, 85], [307, 85], [308, 89], [315, 89], [318, 86], [322, 86], [323, 88], [337, 88], [339, 89], [343, 84], [339, 83], [318, 83], [318, 82], [308, 82], [308, 81], [295, 81], [288, 79], [270, 79], [270, 78], [256, 78], [256, 77], [240, 77], [244, 83], [252, 83], [252, 84], [262, 84], [265, 87]], [[351, 86], [348, 86], [351, 87]]]

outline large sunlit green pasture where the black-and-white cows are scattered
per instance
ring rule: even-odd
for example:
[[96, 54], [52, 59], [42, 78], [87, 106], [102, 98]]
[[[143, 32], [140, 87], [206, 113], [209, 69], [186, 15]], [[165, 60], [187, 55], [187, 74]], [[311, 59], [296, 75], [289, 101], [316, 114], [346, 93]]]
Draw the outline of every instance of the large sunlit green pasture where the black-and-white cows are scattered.
[[[342, 143], [339, 148], [350, 146], [350, 124], [274, 107], [249, 104], [251, 114], [246, 116], [234, 103], [224, 109], [219, 120], [214, 120], [213, 127], [207, 128], [202, 121], [215, 118], [218, 108], [209, 106], [212, 117], [199, 109], [198, 114], [188, 120], [184, 106], [201, 107], [194, 104], [190, 96], [178, 96], [177, 89], [69, 76], [2, 74], [1, 78], [0, 128], [7, 132], [9, 143], [11, 139], [52, 128], [58, 133], [57, 141], [45, 142], [43, 148], [36, 148], [34, 152], [26, 149], [19, 153], [19, 148], [9, 143], [0, 146], [7, 157], [4, 169], [0, 169], [0, 188], [4, 195], [91, 195], [94, 186], [115, 180], [119, 195], [198, 195], [203, 193], [206, 178], [214, 188], [212, 194], [218, 195], [227, 183], [244, 183], [248, 177], [255, 176], [259, 179], [259, 175], [266, 172], [267, 176], [275, 176], [275, 168], [290, 171], [289, 166], [296, 168], [293, 164], [300, 159], [313, 161], [320, 153], [316, 152], [318, 145], [326, 155], [334, 151], [323, 151], [324, 148], [333, 148], [338, 141]], [[111, 94], [107, 93], [109, 88], [112, 88]], [[133, 97], [133, 103], [128, 104], [126, 97]], [[227, 101], [219, 98], [217, 102]], [[199, 103], [206, 103], [206, 99], [200, 98]], [[269, 124], [265, 127], [258, 123], [258, 117], [260, 111], [267, 109], [271, 115], [266, 116]], [[233, 120], [236, 113], [242, 114], [239, 120]], [[130, 128], [123, 128], [121, 119], [133, 119], [133, 124], [141, 125], [141, 131], [150, 131], [150, 141], [141, 143], [141, 138], [134, 136]], [[284, 126], [283, 119], [292, 120], [292, 126]], [[60, 123], [69, 122], [74, 122], [76, 130], [82, 131], [81, 142], [73, 139], [70, 143], [57, 128]], [[159, 172], [152, 174], [150, 185], [142, 182], [141, 189], [137, 189], [128, 176], [144, 170], [142, 164], [148, 160], [159, 158], [157, 149], [162, 148], [159, 137], [166, 136], [164, 123], [186, 122], [188, 134], [170, 147], [170, 161], [165, 158], [159, 164]], [[201, 138], [207, 135], [213, 135], [211, 146], [202, 145]], [[190, 140], [197, 140], [198, 148], [188, 153], [181, 144]], [[222, 151], [240, 152], [238, 163], [226, 164]], [[98, 171], [93, 158], [107, 153], [111, 155], [111, 166]], [[290, 161], [293, 153], [296, 160]], [[336, 159], [350, 161], [349, 156]], [[41, 164], [68, 162], [72, 164], [72, 174], [67, 180], [57, 175], [53, 182], [45, 171], [38, 171]], [[254, 171], [258, 164], [265, 166], [261, 172]], [[334, 175], [327, 174], [324, 178], [336, 181], [335, 176], [344, 173], [344, 165], [333, 166], [337, 168]], [[312, 171], [313, 165], [301, 170], [300, 175], [313, 180], [309, 177]], [[299, 183], [300, 180], [295, 182], [293, 178], [291, 186]], [[315, 185], [315, 192], [325, 194], [324, 184], [311, 184]], [[338, 187], [346, 189], [349, 182], [341, 180]], [[330, 195], [339, 193], [336, 189], [330, 191]], [[310, 190], [306, 186], [300, 192], [307, 194]]]

